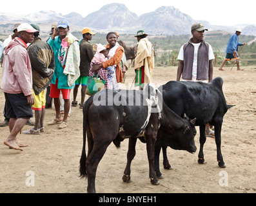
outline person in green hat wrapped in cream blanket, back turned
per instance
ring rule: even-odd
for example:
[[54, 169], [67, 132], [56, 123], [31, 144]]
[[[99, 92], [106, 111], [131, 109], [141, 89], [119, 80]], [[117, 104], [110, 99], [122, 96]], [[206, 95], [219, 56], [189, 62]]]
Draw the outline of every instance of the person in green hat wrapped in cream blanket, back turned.
[[152, 73], [155, 64], [153, 45], [143, 30], [137, 32], [137, 41], [139, 42], [137, 48], [137, 55], [135, 57], [135, 86], [139, 86], [141, 90], [144, 84], [149, 84], [152, 80]]

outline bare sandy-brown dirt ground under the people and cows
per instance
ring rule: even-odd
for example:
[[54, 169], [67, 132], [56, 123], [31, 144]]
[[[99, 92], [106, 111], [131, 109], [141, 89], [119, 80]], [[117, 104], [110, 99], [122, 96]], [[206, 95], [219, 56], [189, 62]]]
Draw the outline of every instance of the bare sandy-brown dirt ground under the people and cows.
[[[256, 192], [256, 68], [244, 67], [244, 71], [214, 68], [214, 77], [224, 79], [223, 91], [227, 103], [235, 105], [224, 117], [222, 126], [222, 155], [227, 167], [217, 165], [214, 138], [207, 138], [204, 145], [206, 164], [197, 164], [199, 152], [199, 127], [195, 144], [197, 152], [175, 151], [168, 147], [172, 170], [164, 170], [161, 185], [151, 185], [148, 177], [146, 145], [137, 142], [137, 154], [132, 162], [132, 182], [122, 181], [126, 165], [128, 140], [121, 149], [111, 144], [104, 154], [96, 176], [96, 192], [101, 193], [255, 193]], [[2, 68], [1, 68], [2, 71]], [[160, 86], [175, 80], [177, 68], [155, 68], [153, 83]], [[130, 89], [133, 69], [126, 73], [126, 85]], [[129, 84], [128, 84], [129, 83]], [[132, 87], [133, 88], [133, 87]], [[80, 92], [80, 91], [79, 91]], [[72, 93], [73, 98], [73, 93]], [[77, 98], [80, 100], [80, 94]], [[0, 111], [5, 97], [0, 91]], [[40, 135], [19, 134], [21, 143], [28, 144], [23, 151], [9, 149], [3, 144], [10, 133], [8, 127], [0, 127], [0, 192], [21, 193], [80, 193], [86, 192], [87, 180], [79, 178], [79, 160], [83, 144], [83, 113], [72, 107], [68, 127], [47, 126], [54, 119], [55, 109], [46, 109], [44, 127]], [[3, 120], [2, 118], [0, 118]], [[32, 118], [34, 120], [34, 118]], [[25, 126], [23, 130], [30, 129]], [[87, 149], [86, 149], [87, 151]], [[162, 155], [160, 156], [162, 162]]]

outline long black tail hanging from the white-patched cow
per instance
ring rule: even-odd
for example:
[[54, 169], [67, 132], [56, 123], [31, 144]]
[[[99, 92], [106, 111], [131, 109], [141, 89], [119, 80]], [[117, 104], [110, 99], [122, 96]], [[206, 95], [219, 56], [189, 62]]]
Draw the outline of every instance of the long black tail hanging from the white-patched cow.
[[81, 178], [84, 178], [87, 176], [87, 170], [86, 170], [86, 123], [87, 123], [87, 116], [88, 116], [88, 110], [90, 105], [92, 104], [92, 98], [89, 98], [83, 107], [83, 149], [82, 154], [80, 158], [80, 167], [79, 172]]

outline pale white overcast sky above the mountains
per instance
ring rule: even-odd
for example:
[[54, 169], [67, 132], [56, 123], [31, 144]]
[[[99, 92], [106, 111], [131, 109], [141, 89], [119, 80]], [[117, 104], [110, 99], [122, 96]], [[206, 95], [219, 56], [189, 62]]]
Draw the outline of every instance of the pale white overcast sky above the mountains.
[[[10, 5], [10, 2], [12, 5]], [[62, 3], [61, 3], [62, 2]], [[66, 2], [66, 3], [65, 3]], [[137, 15], [153, 12], [161, 6], [174, 6], [182, 13], [190, 15], [195, 20], [208, 21], [212, 25], [234, 26], [237, 24], [255, 24], [256, 8], [252, 0], [74, 0], [74, 5], [69, 1], [2, 1], [1, 13], [30, 14], [41, 10], [53, 10], [63, 15], [77, 12], [83, 17], [100, 10], [110, 3], [123, 3]]]

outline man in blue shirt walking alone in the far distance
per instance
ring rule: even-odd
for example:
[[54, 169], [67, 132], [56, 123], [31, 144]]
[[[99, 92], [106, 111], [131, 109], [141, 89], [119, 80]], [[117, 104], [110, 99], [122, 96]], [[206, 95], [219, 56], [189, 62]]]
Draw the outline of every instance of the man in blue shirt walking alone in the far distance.
[[237, 63], [237, 71], [242, 71], [239, 65], [239, 55], [238, 55], [238, 46], [244, 46], [245, 43], [241, 44], [239, 43], [238, 36], [241, 35], [242, 29], [238, 28], [236, 32], [230, 37], [230, 41], [228, 41], [228, 46], [226, 48], [226, 58], [221, 64], [221, 67], [219, 70], [224, 71], [222, 67], [226, 63], [226, 61], [235, 60]]

